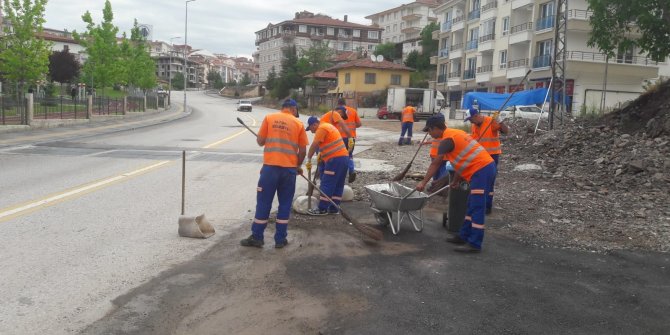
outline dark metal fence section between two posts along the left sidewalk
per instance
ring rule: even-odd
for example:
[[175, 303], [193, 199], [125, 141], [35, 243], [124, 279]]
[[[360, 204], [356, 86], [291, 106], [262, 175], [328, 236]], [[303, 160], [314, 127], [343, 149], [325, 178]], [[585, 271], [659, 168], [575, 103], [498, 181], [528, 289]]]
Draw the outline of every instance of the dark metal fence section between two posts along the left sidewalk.
[[85, 119], [87, 105], [87, 99], [36, 98], [33, 100], [33, 119]]

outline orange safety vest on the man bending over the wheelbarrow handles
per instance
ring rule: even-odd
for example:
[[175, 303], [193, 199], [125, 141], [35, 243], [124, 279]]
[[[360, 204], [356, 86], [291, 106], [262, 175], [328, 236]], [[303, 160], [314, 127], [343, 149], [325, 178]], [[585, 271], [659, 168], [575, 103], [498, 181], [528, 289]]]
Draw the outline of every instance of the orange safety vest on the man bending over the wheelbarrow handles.
[[447, 128], [442, 133], [442, 140], [448, 138], [454, 141], [454, 150], [444, 156], [463, 179], [470, 181], [475, 172], [493, 162], [486, 149], [468, 133], [460, 129]]

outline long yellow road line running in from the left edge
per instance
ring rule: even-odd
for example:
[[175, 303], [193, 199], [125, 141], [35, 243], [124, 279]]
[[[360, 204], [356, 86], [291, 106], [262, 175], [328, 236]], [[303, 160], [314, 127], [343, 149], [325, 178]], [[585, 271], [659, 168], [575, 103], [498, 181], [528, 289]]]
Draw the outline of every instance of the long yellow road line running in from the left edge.
[[32, 213], [38, 209], [53, 206], [57, 203], [63, 202], [68, 199], [82, 196], [87, 193], [91, 193], [95, 190], [101, 189], [103, 187], [110, 186], [112, 184], [117, 184], [122, 181], [128, 180], [130, 178], [137, 177], [139, 175], [145, 174], [151, 170], [155, 170], [159, 167], [165, 166], [172, 161], [160, 161], [158, 163], [145, 166], [130, 172], [125, 172], [116, 176], [105, 178], [102, 180], [94, 181], [88, 184], [79, 185], [75, 188], [58, 192], [55, 194], [48, 195], [41, 199], [31, 200], [29, 202], [15, 205], [8, 208], [0, 209], [0, 222], [6, 221], [21, 215]]

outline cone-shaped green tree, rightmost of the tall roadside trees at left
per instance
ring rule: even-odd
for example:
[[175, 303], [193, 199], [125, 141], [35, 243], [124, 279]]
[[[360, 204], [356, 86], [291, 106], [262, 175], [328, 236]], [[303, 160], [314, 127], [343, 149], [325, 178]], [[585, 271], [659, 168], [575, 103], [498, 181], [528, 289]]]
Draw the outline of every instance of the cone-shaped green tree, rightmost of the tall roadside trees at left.
[[130, 40], [123, 38], [120, 47], [119, 81], [143, 90], [156, 87], [156, 63], [148, 52], [149, 46], [140, 34], [137, 19], [130, 30]]

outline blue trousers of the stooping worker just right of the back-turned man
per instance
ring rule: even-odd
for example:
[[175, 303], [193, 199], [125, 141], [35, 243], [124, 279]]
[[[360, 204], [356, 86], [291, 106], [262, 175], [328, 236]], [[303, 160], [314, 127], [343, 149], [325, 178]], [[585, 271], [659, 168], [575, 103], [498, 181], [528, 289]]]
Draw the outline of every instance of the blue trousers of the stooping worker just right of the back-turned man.
[[[325, 162], [323, 174], [321, 175], [321, 191], [325, 193], [336, 204], [342, 201], [344, 192], [344, 180], [347, 177], [347, 165], [349, 157], [333, 157]], [[328, 211], [337, 211], [323, 195], [319, 198], [319, 209]]]

